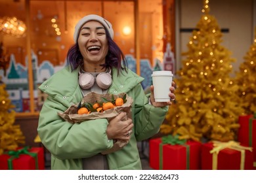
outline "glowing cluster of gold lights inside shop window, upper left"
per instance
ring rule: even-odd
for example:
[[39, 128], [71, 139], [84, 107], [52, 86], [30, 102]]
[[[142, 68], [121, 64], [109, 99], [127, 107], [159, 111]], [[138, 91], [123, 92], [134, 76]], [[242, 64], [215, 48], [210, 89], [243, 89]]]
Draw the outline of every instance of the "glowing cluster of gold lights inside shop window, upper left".
[[26, 31], [26, 25], [15, 16], [4, 16], [0, 18], [0, 33], [12, 35], [15, 37], [22, 37]]

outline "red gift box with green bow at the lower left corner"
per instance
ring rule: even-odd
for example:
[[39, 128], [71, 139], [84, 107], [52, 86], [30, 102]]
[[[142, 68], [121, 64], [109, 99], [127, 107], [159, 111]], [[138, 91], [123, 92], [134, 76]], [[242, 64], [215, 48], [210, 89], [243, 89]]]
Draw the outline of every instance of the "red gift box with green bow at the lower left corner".
[[[29, 154], [15, 154], [20, 150], [28, 150]], [[18, 148], [16, 151], [5, 152], [0, 156], [0, 170], [43, 170], [45, 169], [45, 158], [43, 148]], [[12, 155], [9, 155], [12, 154]]]

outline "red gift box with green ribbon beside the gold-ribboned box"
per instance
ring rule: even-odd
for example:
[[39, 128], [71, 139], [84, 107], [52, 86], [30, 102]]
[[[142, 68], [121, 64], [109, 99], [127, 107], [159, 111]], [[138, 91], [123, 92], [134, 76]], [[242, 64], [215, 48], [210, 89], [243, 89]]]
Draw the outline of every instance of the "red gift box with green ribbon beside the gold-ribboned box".
[[150, 139], [149, 161], [153, 169], [198, 170], [200, 169], [201, 143], [188, 141], [184, 144], [163, 144], [161, 138]]

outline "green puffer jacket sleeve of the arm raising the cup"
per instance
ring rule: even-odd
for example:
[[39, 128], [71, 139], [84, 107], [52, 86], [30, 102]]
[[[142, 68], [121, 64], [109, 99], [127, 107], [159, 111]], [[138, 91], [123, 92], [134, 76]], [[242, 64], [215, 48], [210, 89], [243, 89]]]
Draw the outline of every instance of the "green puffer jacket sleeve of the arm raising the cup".
[[150, 105], [149, 96], [145, 95], [140, 84], [135, 86], [133, 91], [136, 96], [133, 119], [135, 135], [137, 141], [142, 141], [158, 133], [169, 107], [154, 107]]

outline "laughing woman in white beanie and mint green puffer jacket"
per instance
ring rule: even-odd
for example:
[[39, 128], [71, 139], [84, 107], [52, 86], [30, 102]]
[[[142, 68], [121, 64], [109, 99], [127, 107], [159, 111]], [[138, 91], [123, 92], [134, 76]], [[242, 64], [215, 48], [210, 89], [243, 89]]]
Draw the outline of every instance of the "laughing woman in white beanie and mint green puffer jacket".
[[[38, 133], [51, 152], [52, 169], [142, 169], [137, 141], [158, 133], [171, 101], [156, 102], [153, 86], [150, 95], [144, 94], [143, 78], [127, 69], [113, 37], [110, 22], [93, 14], [85, 16], [75, 26], [68, 67], [39, 86], [49, 95], [40, 112]], [[171, 99], [174, 91], [172, 86]], [[132, 118], [121, 112], [110, 121], [71, 124], [58, 116], [57, 112], [79, 103], [89, 92], [127, 93], [133, 98]], [[116, 152], [100, 154], [112, 148], [114, 139], [129, 143]]]

